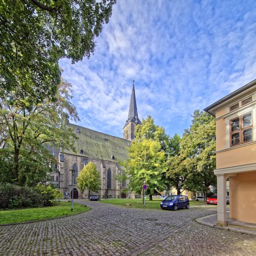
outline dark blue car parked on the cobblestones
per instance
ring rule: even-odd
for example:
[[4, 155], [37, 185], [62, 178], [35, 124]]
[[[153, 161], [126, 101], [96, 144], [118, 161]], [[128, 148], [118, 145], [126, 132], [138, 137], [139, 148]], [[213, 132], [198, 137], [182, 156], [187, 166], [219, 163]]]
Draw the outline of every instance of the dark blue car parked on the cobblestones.
[[177, 211], [180, 208], [189, 209], [189, 200], [187, 196], [173, 195], [168, 196], [160, 204], [162, 209]]

